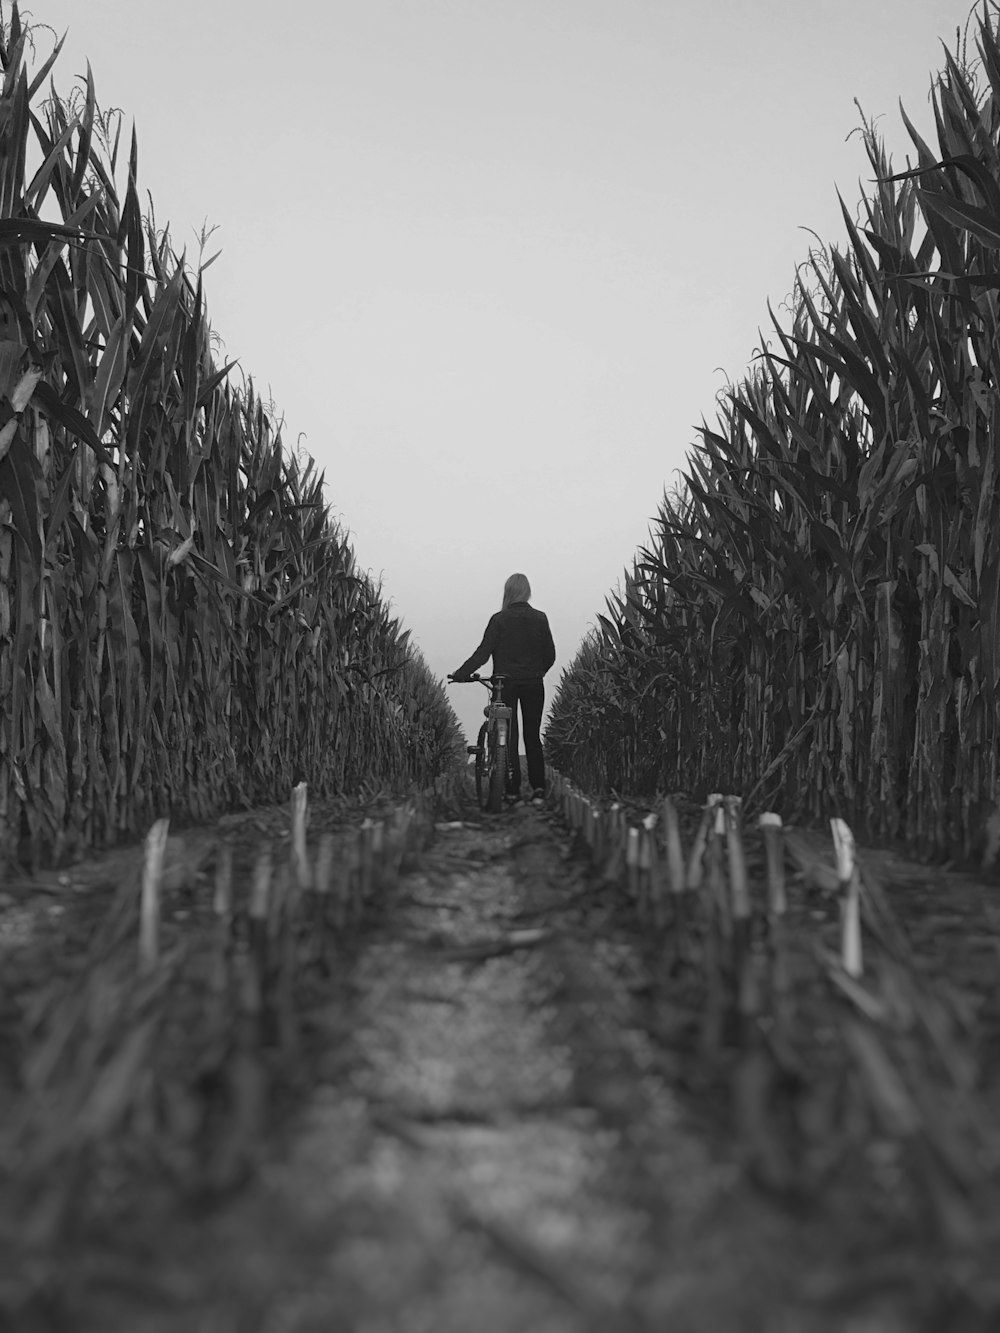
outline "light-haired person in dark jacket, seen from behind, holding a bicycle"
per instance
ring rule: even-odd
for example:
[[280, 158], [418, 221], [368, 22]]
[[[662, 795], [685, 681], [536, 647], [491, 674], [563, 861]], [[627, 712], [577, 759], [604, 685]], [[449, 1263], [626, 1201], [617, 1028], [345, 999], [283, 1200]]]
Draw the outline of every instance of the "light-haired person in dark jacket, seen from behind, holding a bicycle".
[[545, 757], [541, 752], [541, 710], [545, 706], [543, 677], [556, 660], [556, 645], [544, 611], [528, 605], [531, 584], [524, 575], [511, 575], [504, 584], [503, 607], [489, 617], [483, 643], [456, 672], [455, 680], [468, 680], [488, 657], [493, 674], [505, 676], [503, 700], [511, 709], [507, 794], [515, 800], [521, 793], [521, 762], [517, 754], [517, 708], [524, 725], [524, 754], [532, 800], [541, 804], [545, 796]]

